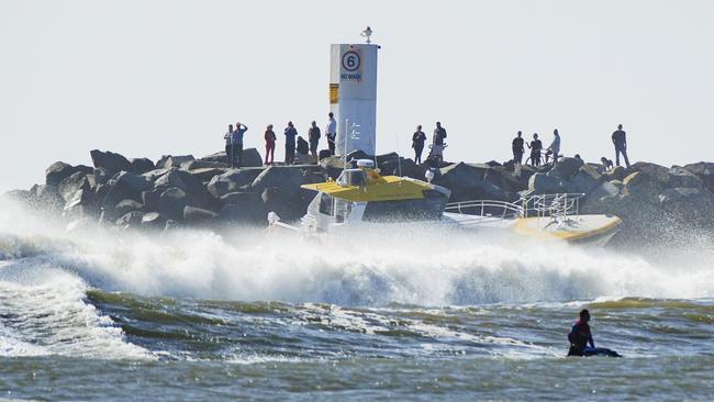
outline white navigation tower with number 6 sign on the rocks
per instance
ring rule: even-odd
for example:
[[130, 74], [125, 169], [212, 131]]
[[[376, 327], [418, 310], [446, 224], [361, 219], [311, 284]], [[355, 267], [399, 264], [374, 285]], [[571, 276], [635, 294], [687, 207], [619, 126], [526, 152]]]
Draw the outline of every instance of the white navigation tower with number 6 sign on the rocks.
[[[337, 121], [336, 154], [362, 150], [375, 155], [377, 139], [377, 52], [372, 30], [366, 44], [333, 44], [330, 53], [330, 111]], [[359, 136], [350, 135], [359, 126]]]

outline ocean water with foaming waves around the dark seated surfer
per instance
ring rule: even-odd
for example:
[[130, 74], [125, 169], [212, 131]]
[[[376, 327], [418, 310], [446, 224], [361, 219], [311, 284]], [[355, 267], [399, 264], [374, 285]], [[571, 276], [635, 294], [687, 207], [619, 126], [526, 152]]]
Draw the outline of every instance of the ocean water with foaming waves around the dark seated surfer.
[[[0, 205], [0, 399], [711, 400], [714, 248], [391, 226], [67, 231]], [[591, 310], [624, 358], [566, 358]]]

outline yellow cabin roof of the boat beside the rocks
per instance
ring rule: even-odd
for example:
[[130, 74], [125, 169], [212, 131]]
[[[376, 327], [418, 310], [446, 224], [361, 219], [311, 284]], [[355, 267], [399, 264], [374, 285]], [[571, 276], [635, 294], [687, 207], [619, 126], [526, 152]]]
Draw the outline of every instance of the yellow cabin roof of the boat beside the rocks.
[[353, 202], [423, 199], [424, 190], [433, 189], [429, 183], [397, 176], [370, 178], [364, 186], [341, 186], [336, 181], [327, 181], [301, 187]]

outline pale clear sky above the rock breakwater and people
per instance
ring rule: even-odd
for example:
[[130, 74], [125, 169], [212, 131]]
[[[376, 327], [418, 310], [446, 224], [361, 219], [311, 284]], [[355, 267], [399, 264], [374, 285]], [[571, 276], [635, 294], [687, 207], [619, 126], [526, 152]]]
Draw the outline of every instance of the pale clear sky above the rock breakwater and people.
[[[328, 111], [330, 45], [381, 45], [378, 153], [440, 121], [447, 160], [507, 160], [517, 131], [561, 152], [714, 160], [714, 1], [0, 1], [0, 191], [56, 160], [219, 152], [228, 123]], [[276, 157], [282, 158], [282, 144]], [[263, 150], [261, 150], [263, 153]]]

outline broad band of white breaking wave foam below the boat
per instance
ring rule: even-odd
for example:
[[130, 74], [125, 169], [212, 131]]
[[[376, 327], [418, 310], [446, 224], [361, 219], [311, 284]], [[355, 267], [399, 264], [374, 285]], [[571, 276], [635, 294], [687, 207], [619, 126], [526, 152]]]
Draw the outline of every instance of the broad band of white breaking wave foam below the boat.
[[[380, 228], [317, 242], [236, 230], [169, 235], [66, 233], [22, 212], [0, 212], [5, 258], [76, 272], [90, 286], [144, 295], [341, 305], [566, 302], [599, 297], [712, 298], [710, 250], [685, 264], [460, 231]], [[674, 259], [677, 260], [677, 259]]]

